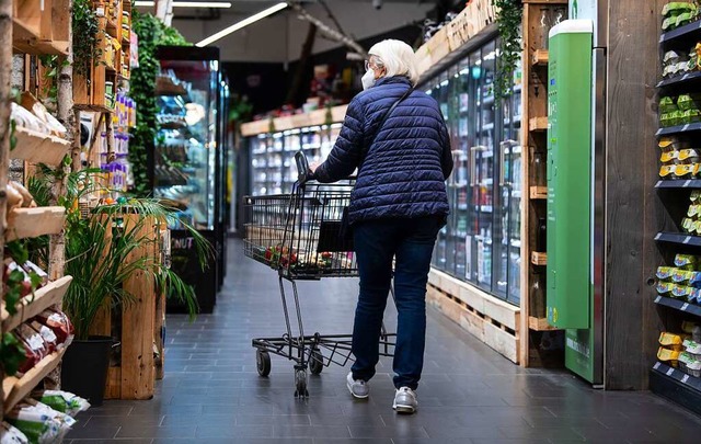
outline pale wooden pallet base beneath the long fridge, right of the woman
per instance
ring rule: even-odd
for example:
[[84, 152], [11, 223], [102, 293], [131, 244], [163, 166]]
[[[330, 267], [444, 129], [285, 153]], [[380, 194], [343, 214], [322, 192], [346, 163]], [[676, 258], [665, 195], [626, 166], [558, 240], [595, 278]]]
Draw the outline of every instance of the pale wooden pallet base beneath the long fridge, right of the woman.
[[514, 363], [518, 363], [519, 308], [432, 270], [426, 301]]

